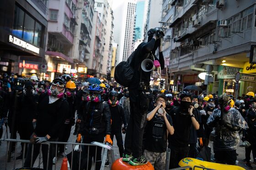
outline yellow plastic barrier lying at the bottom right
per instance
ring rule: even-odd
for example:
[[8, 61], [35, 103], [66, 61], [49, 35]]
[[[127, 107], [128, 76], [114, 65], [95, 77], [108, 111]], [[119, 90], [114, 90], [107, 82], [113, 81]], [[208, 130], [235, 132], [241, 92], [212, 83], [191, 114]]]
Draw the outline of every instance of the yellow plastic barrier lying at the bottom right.
[[[207, 162], [203, 160], [197, 160], [194, 158], [184, 158], [179, 162], [179, 165], [181, 167], [191, 166], [192, 168], [194, 168], [194, 166], [200, 166], [202, 168], [204, 167], [212, 170], [245, 170], [240, 166], [218, 164], [218, 163]], [[202, 168], [195, 168], [194, 170], [202, 170]], [[187, 168], [186, 170], [189, 170], [189, 169]]]

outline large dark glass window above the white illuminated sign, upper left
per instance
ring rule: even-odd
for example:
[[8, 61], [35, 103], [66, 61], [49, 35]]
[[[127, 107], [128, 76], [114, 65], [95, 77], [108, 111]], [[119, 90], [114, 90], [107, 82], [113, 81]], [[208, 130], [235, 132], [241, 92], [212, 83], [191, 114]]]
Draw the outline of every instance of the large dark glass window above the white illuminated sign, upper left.
[[44, 26], [34, 20], [31, 15], [15, 6], [12, 34], [32, 43], [36, 46], [43, 46]]

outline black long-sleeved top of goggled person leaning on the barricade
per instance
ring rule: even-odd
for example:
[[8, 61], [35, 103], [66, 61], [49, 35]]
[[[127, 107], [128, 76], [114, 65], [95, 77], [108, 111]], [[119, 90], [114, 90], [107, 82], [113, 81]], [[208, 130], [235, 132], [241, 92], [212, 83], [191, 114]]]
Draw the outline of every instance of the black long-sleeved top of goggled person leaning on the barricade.
[[59, 98], [54, 103], [49, 103], [48, 94], [39, 97], [37, 115], [37, 126], [35, 133], [39, 137], [46, 136], [58, 138], [61, 125], [64, 123], [69, 110], [69, 104], [65, 98]]

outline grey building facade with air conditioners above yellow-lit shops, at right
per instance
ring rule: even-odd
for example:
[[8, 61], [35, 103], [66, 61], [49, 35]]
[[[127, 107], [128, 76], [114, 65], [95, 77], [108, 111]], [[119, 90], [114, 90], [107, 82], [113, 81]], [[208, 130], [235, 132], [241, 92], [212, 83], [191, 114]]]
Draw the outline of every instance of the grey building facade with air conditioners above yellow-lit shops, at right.
[[[255, 3], [172, 0], [166, 4], [172, 10], [169, 68], [174, 74], [174, 90], [195, 84], [197, 75], [205, 72], [206, 80], [199, 79], [197, 84], [204, 82], [201, 88], [208, 93], [241, 96], [256, 91], [255, 77], [246, 74], [256, 72], [249, 63], [251, 46], [256, 42]], [[237, 72], [243, 75], [236, 83]]]

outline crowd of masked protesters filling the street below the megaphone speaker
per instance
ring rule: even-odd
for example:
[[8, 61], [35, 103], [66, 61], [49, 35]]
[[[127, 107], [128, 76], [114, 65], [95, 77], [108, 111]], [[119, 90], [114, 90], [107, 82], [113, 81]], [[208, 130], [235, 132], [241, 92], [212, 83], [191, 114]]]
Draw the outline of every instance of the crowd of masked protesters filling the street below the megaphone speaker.
[[[253, 92], [243, 97], [233, 95], [203, 94], [191, 92], [154, 91], [154, 100], [146, 114], [143, 135], [143, 155], [156, 170], [165, 167], [166, 149], [171, 149], [170, 169], [178, 167], [181, 159], [197, 158], [199, 149], [213, 141], [212, 161], [235, 165], [236, 147], [242, 135], [245, 147], [245, 165], [251, 167], [250, 155], [256, 162], [256, 99]], [[75, 114], [76, 113], [76, 114]], [[69, 75], [55, 78], [52, 82], [39, 81], [37, 75], [29, 79], [19, 75], [4, 74], [0, 77], [0, 138], [3, 127], [8, 126], [11, 138], [31, 140], [38, 145], [33, 149], [32, 161], [40, 152], [40, 143], [45, 141], [68, 142], [72, 126], [75, 126], [76, 142], [90, 144], [93, 141], [112, 144], [117, 140], [120, 157], [125, 155], [122, 133], [125, 134], [130, 118], [129, 91], [112, 87], [103, 82], [72, 81]], [[74, 142], [74, 141], [69, 141]], [[23, 150], [25, 148], [25, 150]], [[15, 149], [14, 146], [12, 148]], [[64, 145], [58, 145], [58, 157], [66, 155]], [[90, 147], [88, 162], [81, 164], [91, 169], [92, 159], [96, 170], [101, 166], [101, 148]], [[22, 147], [25, 152], [25, 167], [30, 166], [32, 145]], [[43, 167], [48, 170], [54, 158], [54, 146], [42, 146]], [[87, 160], [87, 158], [86, 158]], [[130, 163], [137, 165], [136, 162]], [[108, 161], [105, 166], [108, 166]]]

